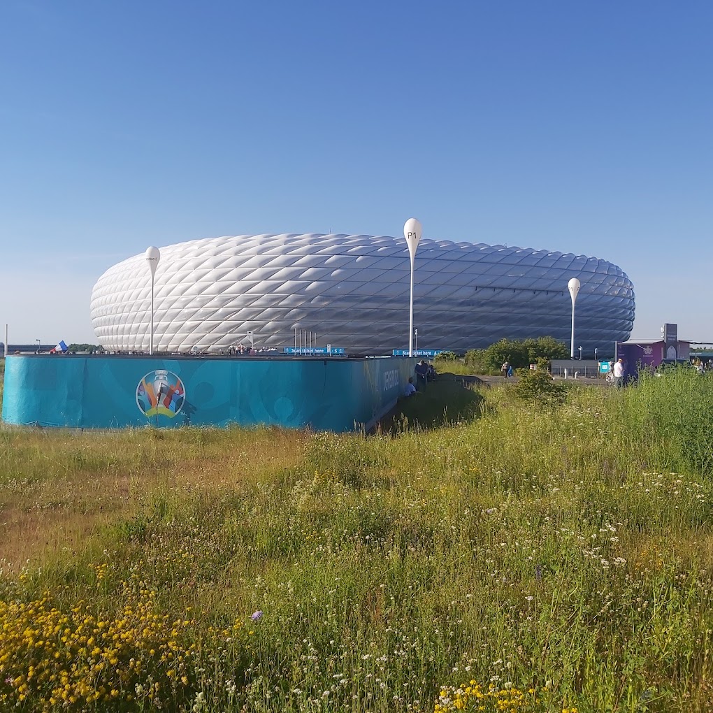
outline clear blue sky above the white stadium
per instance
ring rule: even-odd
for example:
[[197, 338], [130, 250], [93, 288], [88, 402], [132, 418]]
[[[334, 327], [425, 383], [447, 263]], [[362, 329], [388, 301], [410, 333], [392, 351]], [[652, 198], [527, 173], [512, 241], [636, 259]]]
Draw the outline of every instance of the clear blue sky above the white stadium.
[[635, 337], [713, 340], [712, 36], [691, 0], [3, 0], [0, 324], [93, 342], [148, 245], [414, 215], [615, 262]]

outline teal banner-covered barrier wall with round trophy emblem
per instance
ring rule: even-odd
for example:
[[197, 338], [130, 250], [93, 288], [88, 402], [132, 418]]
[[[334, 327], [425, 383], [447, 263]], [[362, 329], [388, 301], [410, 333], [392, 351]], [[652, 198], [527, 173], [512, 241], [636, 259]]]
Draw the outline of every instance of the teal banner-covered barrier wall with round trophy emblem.
[[9, 356], [8, 424], [111, 429], [269, 424], [370, 428], [403, 394], [415, 359]]

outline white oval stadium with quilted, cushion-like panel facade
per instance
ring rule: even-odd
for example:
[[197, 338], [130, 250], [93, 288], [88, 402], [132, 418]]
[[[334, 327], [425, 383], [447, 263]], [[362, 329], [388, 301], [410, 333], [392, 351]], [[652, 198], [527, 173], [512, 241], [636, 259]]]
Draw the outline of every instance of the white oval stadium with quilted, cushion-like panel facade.
[[[421, 240], [414, 272], [419, 349], [487, 347], [503, 337], [550, 335], [569, 344], [568, 280], [577, 347], [628, 339], [634, 292], [620, 267], [596, 257], [501, 245]], [[410, 263], [403, 238], [370, 235], [237, 235], [160, 248], [154, 349], [218, 352], [245, 342], [384, 354], [409, 345]], [[91, 319], [111, 351], [148, 351], [150, 272], [144, 255], [110, 267], [94, 285]], [[307, 344], [307, 337], [304, 337]]]

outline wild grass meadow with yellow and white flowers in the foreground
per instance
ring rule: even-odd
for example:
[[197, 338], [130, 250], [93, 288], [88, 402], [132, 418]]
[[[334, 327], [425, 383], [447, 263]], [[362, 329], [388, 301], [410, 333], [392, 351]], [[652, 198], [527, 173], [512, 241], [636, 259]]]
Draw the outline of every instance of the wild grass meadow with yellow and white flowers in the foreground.
[[[447, 408], [446, 408], [447, 407]], [[0, 430], [0, 709], [713, 709], [713, 379], [376, 436]]]

